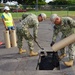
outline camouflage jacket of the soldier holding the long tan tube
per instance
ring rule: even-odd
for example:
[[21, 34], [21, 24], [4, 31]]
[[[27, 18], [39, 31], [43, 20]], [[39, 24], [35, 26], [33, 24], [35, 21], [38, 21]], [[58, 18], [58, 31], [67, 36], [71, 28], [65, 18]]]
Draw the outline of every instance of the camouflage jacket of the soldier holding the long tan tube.
[[56, 41], [57, 35], [62, 32], [62, 38], [75, 33], [75, 21], [70, 17], [62, 17], [60, 25], [54, 25], [52, 41]]

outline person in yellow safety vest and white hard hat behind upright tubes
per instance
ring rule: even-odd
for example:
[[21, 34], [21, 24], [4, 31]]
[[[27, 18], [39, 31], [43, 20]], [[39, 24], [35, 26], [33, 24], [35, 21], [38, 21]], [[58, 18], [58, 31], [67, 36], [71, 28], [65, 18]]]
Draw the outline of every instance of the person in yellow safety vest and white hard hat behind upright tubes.
[[1, 16], [4, 27], [6, 30], [14, 30], [14, 22], [11, 13], [9, 13], [10, 8], [8, 6], [4, 7], [4, 12]]

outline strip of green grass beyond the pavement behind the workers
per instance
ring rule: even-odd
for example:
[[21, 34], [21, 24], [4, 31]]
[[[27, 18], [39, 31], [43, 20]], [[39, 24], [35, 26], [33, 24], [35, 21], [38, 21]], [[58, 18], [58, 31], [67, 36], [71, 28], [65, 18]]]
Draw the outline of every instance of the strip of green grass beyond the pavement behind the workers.
[[[51, 14], [58, 14], [59, 16], [75, 16], [75, 11], [29, 11], [29, 12], [14, 12], [12, 13], [13, 18], [19, 19], [24, 13], [34, 13], [36, 15], [40, 13], [45, 13], [47, 17], [50, 17]], [[0, 13], [1, 16], [2, 13]]]

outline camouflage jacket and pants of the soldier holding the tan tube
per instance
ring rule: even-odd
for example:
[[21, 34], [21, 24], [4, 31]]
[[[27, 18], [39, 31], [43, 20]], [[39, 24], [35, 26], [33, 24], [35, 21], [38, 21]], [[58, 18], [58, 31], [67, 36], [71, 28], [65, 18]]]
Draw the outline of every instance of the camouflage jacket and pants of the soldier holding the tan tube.
[[[75, 21], [70, 17], [62, 17], [61, 18], [61, 25], [54, 26], [54, 34], [52, 41], [56, 41], [57, 35], [59, 32], [62, 32], [61, 38], [65, 38], [73, 33], [75, 33]], [[75, 43], [70, 44], [68, 46], [69, 51], [69, 59], [74, 59], [74, 52], [75, 52]], [[65, 49], [63, 48], [61, 54], [65, 53]]]

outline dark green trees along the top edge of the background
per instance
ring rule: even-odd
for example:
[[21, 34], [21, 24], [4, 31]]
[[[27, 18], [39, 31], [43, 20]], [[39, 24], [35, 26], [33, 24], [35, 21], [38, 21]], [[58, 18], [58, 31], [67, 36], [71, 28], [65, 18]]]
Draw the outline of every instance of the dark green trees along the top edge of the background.
[[[2, 0], [0, 0], [1, 2]], [[75, 0], [53, 0], [49, 3], [46, 3], [46, 0], [3, 0], [3, 2], [7, 1], [17, 1], [19, 4], [23, 5], [75, 5]]]

